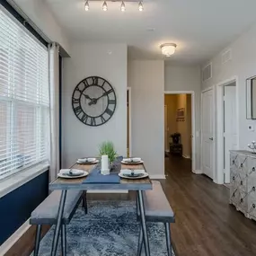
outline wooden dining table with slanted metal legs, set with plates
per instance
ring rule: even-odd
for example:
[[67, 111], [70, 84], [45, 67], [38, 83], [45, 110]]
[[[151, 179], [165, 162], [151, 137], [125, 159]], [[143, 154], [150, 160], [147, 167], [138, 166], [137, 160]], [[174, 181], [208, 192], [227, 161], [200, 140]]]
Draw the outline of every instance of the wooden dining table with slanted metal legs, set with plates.
[[[75, 163], [72, 169], [84, 170], [86, 172], [93, 171], [95, 164], [79, 164]], [[121, 164], [121, 169], [130, 169], [130, 170], [145, 170], [145, 164]], [[118, 174], [118, 172], [117, 172]], [[88, 176], [89, 176], [88, 175]], [[86, 177], [88, 177], [86, 176]], [[146, 217], [145, 217], [145, 207], [144, 207], [144, 197], [143, 190], [152, 190], [152, 183], [150, 178], [128, 180], [120, 179], [119, 183], [84, 183], [86, 177], [75, 178], [75, 179], [63, 179], [57, 178], [55, 181], [49, 183], [49, 190], [62, 190], [61, 197], [59, 200], [58, 212], [57, 212], [57, 225], [55, 227], [51, 256], [56, 256], [57, 254], [57, 243], [61, 227], [61, 220], [63, 216], [65, 201], [66, 201], [66, 192], [67, 190], [134, 190], [137, 192], [137, 208], [140, 212], [140, 222], [143, 232], [144, 246], [146, 256], [150, 256], [149, 251], [149, 242], [146, 229]]]

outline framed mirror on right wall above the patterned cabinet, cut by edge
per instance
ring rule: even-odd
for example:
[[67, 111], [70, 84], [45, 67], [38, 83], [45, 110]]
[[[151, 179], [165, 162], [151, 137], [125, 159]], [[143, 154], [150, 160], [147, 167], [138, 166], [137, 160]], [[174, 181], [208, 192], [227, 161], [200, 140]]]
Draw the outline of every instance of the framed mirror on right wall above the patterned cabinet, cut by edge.
[[256, 119], [256, 76], [246, 79], [246, 118]]

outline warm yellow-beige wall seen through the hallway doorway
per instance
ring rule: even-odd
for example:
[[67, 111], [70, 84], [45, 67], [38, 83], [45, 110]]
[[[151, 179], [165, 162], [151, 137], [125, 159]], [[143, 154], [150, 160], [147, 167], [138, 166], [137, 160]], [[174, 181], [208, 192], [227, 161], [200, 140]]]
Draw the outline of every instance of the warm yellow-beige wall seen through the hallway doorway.
[[[174, 133], [181, 133], [183, 155], [191, 157], [191, 95], [190, 94], [166, 94], [164, 105], [167, 106], [168, 137]], [[185, 109], [184, 121], [177, 121], [178, 109]]]

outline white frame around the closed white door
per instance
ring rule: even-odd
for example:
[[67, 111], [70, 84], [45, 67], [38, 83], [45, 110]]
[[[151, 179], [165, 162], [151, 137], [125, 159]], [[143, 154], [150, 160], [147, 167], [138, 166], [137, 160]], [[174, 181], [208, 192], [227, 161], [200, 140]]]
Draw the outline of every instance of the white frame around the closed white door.
[[213, 106], [212, 106], [212, 108], [213, 108], [213, 155], [212, 155], [212, 157], [213, 157], [213, 181], [216, 183], [216, 152], [215, 152], [215, 150], [216, 150], [216, 133], [215, 133], [215, 131], [216, 131], [216, 128], [215, 128], [215, 87], [214, 86], [210, 86], [210, 87], [208, 87], [207, 89], [204, 89], [204, 90], [202, 90], [201, 91], [201, 119], [200, 119], [200, 121], [201, 121], [201, 151], [200, 151], [200, 162], [201, 162], [201, 171], [202, 171], [202, 173], [204, 174], [204, 172], [203, 172], [203, 133], [202, 133], [202, 131], [203, 131], [203, 109], [202, 109], [202, 102], [203, 102], [203, 93], [207, 93], [208, 91], [212, 91], [212, 93], [213, 93]]

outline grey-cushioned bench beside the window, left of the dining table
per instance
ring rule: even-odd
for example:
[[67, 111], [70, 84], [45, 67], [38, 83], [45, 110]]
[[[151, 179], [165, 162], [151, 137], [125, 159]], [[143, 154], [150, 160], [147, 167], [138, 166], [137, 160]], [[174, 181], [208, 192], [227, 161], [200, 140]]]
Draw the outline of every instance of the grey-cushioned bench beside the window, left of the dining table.
[[[60, 200], [61, 190], [54, 190], [47, 199], [45, 199], [39, 207], [31, 213], [31, 225], [37, 225], [34, 256], [39, 255], [40, 250], [40, 234], [41, 225], [56, 225], [57, 224], [57, 210], [58, 202]], [[85, 213], [87, 212], [86, 192], [69, 190], [66, 193], [66, 203], [62, 218], [61, 228], [61, 249], [62, 255], [66, 255], [66, 225], [75, 214], [76, 208], [79, 206], [81, 199], [83, 199], [83, 206]]]

